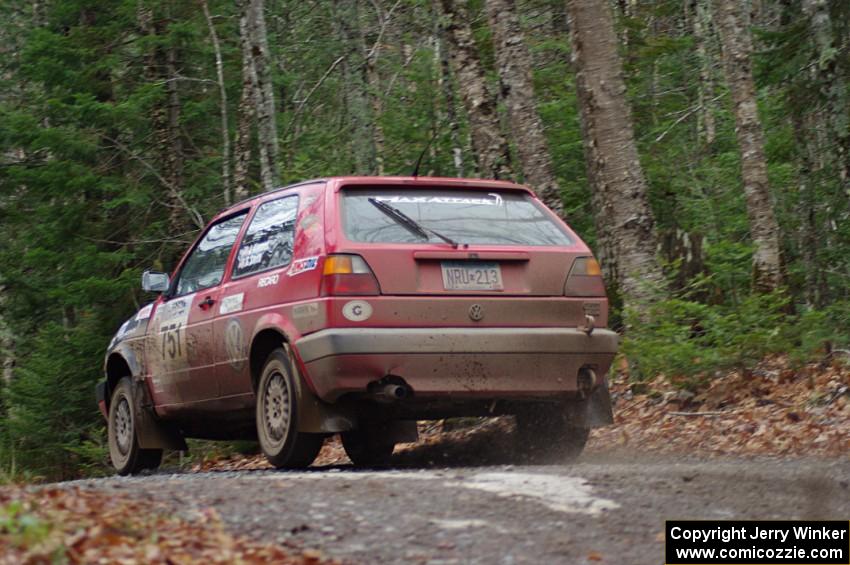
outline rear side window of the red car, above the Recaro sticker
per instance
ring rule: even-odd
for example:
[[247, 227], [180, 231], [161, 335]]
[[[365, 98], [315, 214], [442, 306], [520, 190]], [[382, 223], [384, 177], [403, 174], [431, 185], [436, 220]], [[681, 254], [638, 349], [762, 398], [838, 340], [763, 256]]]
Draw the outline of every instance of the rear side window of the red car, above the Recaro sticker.
[[245, 232], [233, 277], [242, 277], [292, 261], [298, 197], [287, 196], [261, 204]]

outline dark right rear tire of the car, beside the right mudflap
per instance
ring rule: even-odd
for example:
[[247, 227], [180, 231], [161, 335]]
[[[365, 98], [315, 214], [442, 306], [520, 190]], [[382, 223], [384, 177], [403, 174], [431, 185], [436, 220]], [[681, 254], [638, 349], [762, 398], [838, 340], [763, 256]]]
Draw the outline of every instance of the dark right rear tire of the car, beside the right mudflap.
[[569, 423], [564, 406], [536, 406], [516, 415], [517, 451], [532, 463], [568, 463], [581, 455], [588, 428]]

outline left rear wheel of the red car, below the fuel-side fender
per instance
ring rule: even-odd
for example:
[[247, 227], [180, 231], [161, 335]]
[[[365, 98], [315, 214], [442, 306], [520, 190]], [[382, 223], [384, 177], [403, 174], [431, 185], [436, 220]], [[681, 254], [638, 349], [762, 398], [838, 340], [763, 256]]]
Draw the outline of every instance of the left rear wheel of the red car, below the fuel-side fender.
[[257, 437], [269, 463], [278, 469], [303, 469], [319, 454], [322, 434], [299, 432], [299, 383], [286, 352], [275, 349], [257, 385]]

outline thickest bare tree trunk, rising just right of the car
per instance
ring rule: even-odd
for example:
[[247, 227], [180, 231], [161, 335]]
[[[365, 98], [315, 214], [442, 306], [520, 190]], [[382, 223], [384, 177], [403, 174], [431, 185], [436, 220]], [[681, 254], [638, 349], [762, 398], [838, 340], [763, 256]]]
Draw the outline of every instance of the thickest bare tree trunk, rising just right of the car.
[[568, 0], [567, 10], [600, 256], [624, 306], [641, 315], [664, 291], [664, 277], [611, 9]]

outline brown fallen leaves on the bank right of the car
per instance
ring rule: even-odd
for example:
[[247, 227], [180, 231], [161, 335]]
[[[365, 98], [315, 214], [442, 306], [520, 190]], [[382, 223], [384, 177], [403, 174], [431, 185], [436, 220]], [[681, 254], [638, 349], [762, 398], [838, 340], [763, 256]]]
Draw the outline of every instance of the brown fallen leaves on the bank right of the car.
[[635, 447], [695, 455], [850, 453], [850, 370], [839, 365], [789, 368], [765, 360], [749, 373], [715, 378], [683, 394], [659, 377], [635, 386], [614, 379], [615, 425], [591, 435], [591, 448]]

